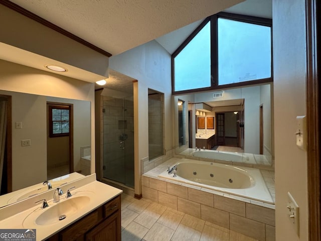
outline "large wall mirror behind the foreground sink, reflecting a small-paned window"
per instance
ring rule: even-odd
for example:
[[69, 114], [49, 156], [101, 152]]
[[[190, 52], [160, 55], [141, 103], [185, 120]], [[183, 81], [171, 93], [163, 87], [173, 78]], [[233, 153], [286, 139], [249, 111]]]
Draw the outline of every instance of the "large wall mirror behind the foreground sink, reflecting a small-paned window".
[[[48, 190], [44, 181], [54, 188], [90, 174], [90, 101], [5, 90], [0, 97], [0, 112], [9, 113], [1, 115], [9, 125], [2, 132], [0, 206]], [[1, 201], [19, 190], [27, 191]]]

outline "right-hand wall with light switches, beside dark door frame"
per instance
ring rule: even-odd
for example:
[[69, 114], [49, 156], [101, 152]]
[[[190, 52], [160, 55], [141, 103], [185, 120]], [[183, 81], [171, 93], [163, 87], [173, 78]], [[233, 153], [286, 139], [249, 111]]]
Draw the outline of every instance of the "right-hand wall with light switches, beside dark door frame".
[[[305, 1], [272, 6], [276, 240], [308, 240], [307, 157], [294, 134], [296, 116], [306, 114]], [[299, 236], [288, 218], [287, 192], [299, 206]]]

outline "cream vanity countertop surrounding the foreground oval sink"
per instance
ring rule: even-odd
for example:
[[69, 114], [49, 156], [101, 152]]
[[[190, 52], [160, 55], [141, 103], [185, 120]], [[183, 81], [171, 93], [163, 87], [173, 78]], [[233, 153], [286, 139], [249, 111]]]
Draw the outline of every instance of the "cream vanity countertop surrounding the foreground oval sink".
[[[54, 223], [46, 225], [36, 224], [36, 218], [34, 217], [38, 217], [40, 214], [47, 211], [49, 208], [54, 207], [55, 205], [59, 205], [59, 203], [68, 200], [66, 198], [67, 189], [73, 186], [76, 186], [76, 188], [71, 190], [71, 194], [73, 196], [69, 199], [76, 198], [77, 196], [86, 195], [90, 198], [89, 203], [83, 205], [83, 207], [81, 207], [75, 213], [72, 213], [69, 216], [67, 215], [67, 217], [61, 221], [56, 221]], [[77, 186], [79, 187], [77, 188]], [[40, 194], [38, 197], [31, 197], [18, 203], [0, 208], [0, 219], [4, 216], [8, 216], [7, 218], [0, 220], [0, 227], [36, 229], [37, 240], [43, 240], [59, 232], [66, 226], [79, 220], [81, 217], [85, 216], [92, 210], [96, 209], [105, 202], [111, 200], [112, 198], [122, 193], [122, 190], [120, 189], [96, 181], [95, 174], [87, 176], [81, 180], [71, 182], [70, 184], [67, 184], [66, 186], [62, 187], [62, 189], [64, 194], [61, 195], [60, 201], [57, 203], [54, 203], [52, 200], [54, 192], [53, 190], [48, 191], [44, 194]], [[51, 196], [51, 199], [46, 198], [48, 196]], [[42, 198], [46, 198], [47, 200], [49, 200], [47, 201], [49, 207], [41, 209], [40, 207], [42, 202], [40, 202], [39, 204], [34, 204], [35, 201], [41, 200]], [[76, 200], [78, 199], [75, 199], [75, 201]], [[23, 206], [25, 206], [25, 208], [27, 206], [27, 209], [23, 209]]]

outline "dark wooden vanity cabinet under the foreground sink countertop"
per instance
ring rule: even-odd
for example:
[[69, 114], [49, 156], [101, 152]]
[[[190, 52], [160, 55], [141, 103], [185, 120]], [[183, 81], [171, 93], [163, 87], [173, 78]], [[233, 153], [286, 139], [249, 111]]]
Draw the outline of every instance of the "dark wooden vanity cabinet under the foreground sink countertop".
[[70, 224], [47, 241], [120, 241], [120, 195]]

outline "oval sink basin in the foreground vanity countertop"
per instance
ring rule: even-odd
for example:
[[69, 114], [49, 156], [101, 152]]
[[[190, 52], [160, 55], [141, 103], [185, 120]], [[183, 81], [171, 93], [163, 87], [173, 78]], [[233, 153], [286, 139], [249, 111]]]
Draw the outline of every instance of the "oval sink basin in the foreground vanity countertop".
[[88, 196], [78, 196], [55, 203], [36, 218], [37, 225], [59, 222], [74, 214], [89, 203]]

